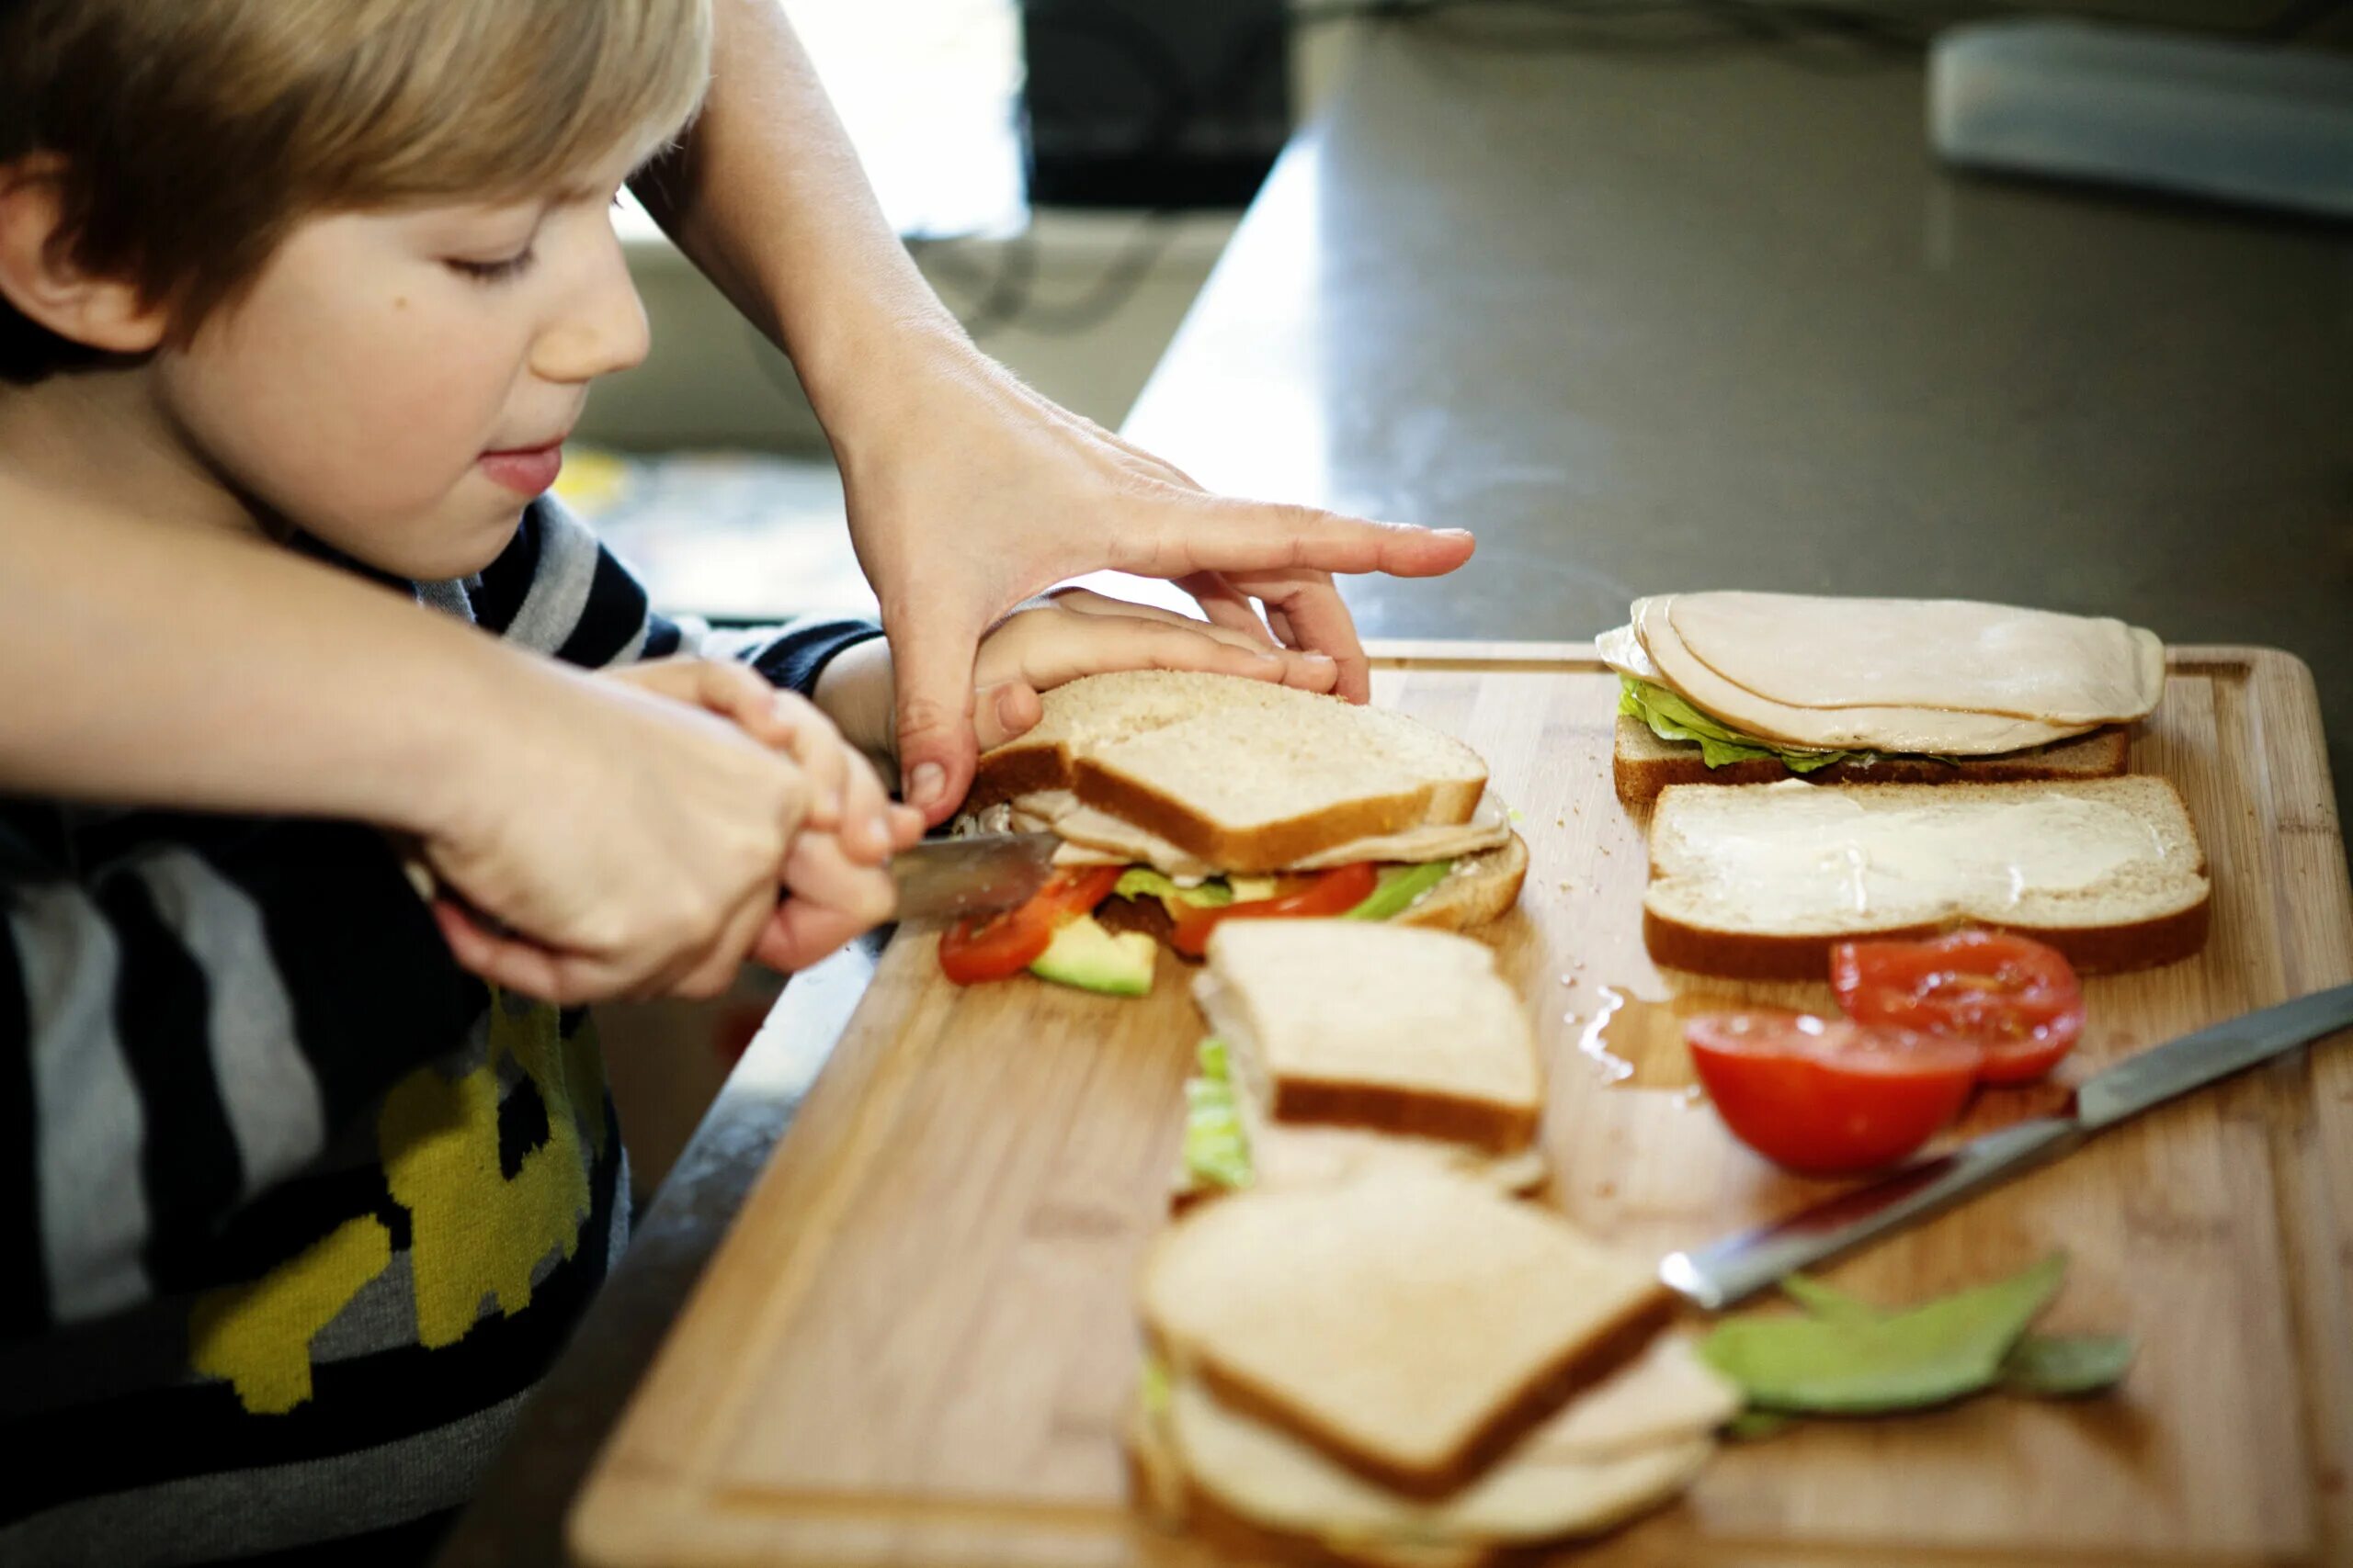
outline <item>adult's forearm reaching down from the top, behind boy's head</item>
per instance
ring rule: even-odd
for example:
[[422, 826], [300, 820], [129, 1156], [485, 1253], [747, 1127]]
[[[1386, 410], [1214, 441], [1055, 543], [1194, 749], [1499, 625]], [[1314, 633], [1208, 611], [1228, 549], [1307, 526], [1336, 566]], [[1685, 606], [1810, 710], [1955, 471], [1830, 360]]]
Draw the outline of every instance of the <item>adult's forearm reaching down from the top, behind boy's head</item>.
[[892, 233], [776, 0], [718, 0], [711, 99], [638, 181], [680, 249], [800, 371], [840, 444], [911, 355], [981, 360]]

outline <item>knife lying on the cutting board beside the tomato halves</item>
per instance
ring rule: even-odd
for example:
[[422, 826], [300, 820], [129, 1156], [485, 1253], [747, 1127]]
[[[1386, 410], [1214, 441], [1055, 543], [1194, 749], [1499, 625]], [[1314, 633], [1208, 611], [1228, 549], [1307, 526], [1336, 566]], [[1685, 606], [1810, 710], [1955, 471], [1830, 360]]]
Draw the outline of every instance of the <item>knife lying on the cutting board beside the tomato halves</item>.
[[2346, 1025], [2353, 1025], [2353, 985], [2184, 1034], [2085, 1079], [2075, 1088], [2073, 1114], [2005, 1126], [1788, 1220], [1744, 1229], [1689, 1253], [1668, 1253], [1659, 1262], [1659, 1279], [1708, 1312], [1729, 1307], [1812, 1262], [1875, 1241], [2021, 1171], [2049, 1164], [2127, 1117]]

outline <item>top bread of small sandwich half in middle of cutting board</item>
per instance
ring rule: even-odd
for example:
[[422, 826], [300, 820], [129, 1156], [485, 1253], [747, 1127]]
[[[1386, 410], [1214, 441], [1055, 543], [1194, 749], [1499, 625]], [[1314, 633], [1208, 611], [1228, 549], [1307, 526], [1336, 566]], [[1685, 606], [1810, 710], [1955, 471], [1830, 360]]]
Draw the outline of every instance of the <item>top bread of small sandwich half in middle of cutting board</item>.
[[1515, 1154], [1544, 1072], [1494, 952], [1452, 931], [1360, 919], [1235, 919], [1193, 999], [1235, 1079], [1275, 1121], [1355, 1126]]

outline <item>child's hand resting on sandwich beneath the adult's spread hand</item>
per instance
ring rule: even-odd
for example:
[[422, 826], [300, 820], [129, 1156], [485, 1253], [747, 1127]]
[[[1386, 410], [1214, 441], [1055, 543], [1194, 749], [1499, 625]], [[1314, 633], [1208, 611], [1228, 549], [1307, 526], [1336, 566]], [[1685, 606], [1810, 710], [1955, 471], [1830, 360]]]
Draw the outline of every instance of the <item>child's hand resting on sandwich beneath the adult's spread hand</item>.
[[1040, 691], [1111, 670], [1207, 670], [1332, 691], [1339, 665], [1325, 654], [1268, 646], [1249, 632], [1153, 604], [1064, 588], [1031, 599], [981, 639], [972, 665], [972, 722], [981, 750], [1038, 724]]

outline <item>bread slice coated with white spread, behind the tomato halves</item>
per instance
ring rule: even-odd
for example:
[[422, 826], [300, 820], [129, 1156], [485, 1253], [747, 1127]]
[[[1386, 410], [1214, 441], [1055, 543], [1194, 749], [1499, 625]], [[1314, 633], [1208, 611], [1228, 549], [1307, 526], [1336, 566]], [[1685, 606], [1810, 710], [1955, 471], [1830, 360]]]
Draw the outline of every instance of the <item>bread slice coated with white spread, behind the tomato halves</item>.
[[2019, 931], [2087, 973], [2205, 945], [2212, 884], [2162, 778], [1675, 785], [1649, 823], [1642, 943], [1668, 969], [1819, 980], [1833, 943]]

